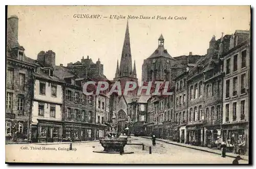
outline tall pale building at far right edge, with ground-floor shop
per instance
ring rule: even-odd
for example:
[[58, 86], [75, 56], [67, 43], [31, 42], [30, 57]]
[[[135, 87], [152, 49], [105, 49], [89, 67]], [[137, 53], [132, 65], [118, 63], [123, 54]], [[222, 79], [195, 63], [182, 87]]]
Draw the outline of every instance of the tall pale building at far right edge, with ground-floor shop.
[[234, 146], [245, 142], [248, 153], [250, 35], [237, 30], [230, 39], [229, 51], [224, 54], [223, 80], [223, 140]]

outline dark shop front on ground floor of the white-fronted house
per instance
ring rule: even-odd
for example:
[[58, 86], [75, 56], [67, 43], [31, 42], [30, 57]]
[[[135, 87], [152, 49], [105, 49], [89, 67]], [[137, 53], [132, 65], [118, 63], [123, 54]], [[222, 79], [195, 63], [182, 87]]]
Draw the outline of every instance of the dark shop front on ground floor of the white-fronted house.
[[62, 141], [61, 122], [39, 120], [37, 125], [31, 126], [32, 142], [59, 142]]

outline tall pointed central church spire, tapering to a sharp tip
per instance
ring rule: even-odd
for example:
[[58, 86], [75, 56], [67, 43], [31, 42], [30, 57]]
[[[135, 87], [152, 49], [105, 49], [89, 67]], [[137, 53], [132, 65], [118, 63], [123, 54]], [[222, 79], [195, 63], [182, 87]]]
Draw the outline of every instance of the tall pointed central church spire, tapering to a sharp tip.
[[133, 74], [128, 20], [124, 36], [119, 72], [120, 76], [132, 77]]

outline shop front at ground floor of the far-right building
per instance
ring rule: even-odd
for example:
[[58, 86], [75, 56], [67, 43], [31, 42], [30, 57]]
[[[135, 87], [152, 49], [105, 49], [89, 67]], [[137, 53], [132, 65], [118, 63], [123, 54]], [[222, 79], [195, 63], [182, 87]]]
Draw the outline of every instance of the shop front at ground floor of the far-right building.
[[248, 154], [248, 128], [248, 122], [223, 124], [223, 141], [233, 148], [240, 147], [243, 154]]

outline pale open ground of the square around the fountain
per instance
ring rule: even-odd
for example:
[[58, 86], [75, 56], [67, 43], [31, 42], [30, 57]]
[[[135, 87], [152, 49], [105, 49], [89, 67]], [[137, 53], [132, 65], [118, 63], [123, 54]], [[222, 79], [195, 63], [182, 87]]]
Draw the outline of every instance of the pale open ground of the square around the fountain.
[[[161, 141], [156, 141], [156, 146], [152, 146], [150, 139], [132, 136], [129, 140], [131, 140], [131, 142], [144, 143], [145, 150], [142, 151], [142, 146], [126, 145], [124, 152], [132, 151], [134, 154], [124, 154], [120, 156], [119, 154], [94, 153], [93, 151], [103, 150], [103, 147], [101, 147], [98, 141], [73, 143], [73, 151], [68, 151], [70, 144], [7, 144], [6, 161], [137, 164], [231, 164], [233, 161], [233, 158], [230, 157], [222, 158], [217, 154], [175, 146]], [[93, 146], [95, 148], [93, 148]], [[148, 153], [149, 146], [152, 146], [152, 154]], [[248, 164], [248, 161], [240, 160], [239, 163]]]

